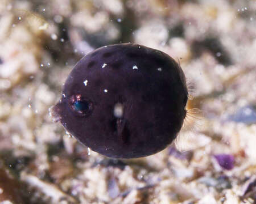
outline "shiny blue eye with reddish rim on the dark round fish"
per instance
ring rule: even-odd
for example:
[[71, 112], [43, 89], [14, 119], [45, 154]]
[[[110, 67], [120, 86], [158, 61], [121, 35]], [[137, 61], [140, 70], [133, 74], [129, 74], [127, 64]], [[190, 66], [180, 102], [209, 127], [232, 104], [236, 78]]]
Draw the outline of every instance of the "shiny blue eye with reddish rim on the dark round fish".
[[92, 113], [92, 102], [84, 99], [81, 95], [73, 95], [69, 105], [72, 111], [80, 116], [89, 116]]

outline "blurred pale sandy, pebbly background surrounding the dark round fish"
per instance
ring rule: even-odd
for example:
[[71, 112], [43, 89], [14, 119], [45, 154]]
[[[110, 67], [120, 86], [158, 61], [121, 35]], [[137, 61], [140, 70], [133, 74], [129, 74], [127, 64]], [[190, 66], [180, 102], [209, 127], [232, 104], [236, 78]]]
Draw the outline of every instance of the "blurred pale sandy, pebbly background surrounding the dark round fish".
[[[204, 116], [182, 151], [109, 159], [49, 117], [75, 63], [119, 42], [166, 52], [193, 84]], [[256, 203], [255, 53], [254, 0], [1, 0], [0, 203]]]

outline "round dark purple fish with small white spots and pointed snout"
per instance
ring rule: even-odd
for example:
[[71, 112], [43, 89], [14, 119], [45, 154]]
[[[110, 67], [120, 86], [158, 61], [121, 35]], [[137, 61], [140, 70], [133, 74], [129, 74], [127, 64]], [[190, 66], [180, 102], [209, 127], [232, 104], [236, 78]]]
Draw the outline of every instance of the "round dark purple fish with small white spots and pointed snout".
[[174, 59], [146, 46], [116, 44], [76, 64], [52, 110], [93, 151], [139, 158], [174, 141], [187, 100], [185, 76]]

